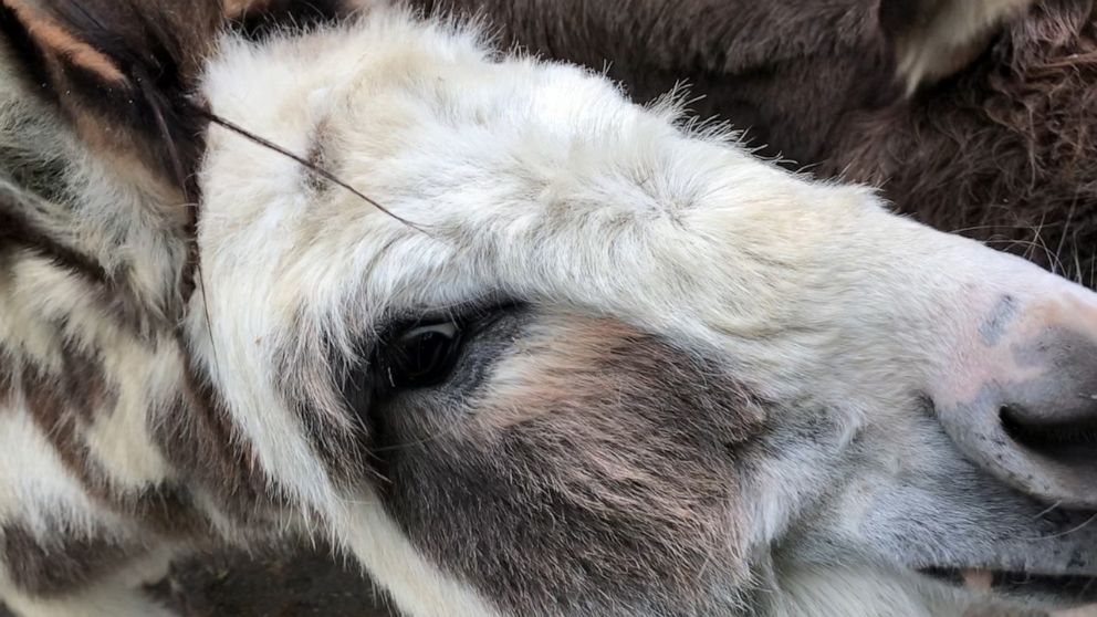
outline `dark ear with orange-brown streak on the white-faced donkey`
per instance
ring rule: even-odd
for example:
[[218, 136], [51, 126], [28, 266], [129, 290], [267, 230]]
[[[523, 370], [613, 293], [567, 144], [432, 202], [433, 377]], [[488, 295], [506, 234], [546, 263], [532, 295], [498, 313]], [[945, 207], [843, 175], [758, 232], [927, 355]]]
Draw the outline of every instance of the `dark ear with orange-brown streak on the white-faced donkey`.
[[206, 126], [192, 92], [222, 15], [221, 0], [0, 0], [0, 36], [92, 147], [189, 192]]

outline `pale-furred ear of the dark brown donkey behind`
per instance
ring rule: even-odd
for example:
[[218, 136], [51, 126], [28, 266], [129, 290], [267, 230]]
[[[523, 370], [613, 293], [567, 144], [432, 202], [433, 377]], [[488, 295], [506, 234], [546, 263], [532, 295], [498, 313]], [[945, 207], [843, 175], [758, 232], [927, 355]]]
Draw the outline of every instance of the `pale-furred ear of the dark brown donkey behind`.
[[896, 48], [907, 94], [948, 77], [979, 56], [1005, 21], [1035, 0], [885, 0], [884, 28]]

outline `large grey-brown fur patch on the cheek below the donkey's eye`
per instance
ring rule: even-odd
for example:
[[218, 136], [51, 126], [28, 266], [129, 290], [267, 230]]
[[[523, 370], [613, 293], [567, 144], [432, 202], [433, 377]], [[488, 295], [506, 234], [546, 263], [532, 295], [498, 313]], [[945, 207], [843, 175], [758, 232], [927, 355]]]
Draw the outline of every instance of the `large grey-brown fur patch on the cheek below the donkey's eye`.
[[[372, 415], [382, 499], [412, 542], [514, 615], [735, 614], [751, 585], [734, 463], [761, 401], [616, 322], [495, 330], [478, 344], [522, 352], [459, 375], [463, 397]], [[500, 370], [529, 379], [495, 391]]]

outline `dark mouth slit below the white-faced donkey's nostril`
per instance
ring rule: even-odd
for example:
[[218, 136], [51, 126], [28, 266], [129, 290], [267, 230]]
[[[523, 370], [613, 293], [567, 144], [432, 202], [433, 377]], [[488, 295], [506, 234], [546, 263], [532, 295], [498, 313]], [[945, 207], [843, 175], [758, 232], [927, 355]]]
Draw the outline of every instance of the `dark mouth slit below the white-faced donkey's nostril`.
[[1069, 604], [1097, 600], [1097, 576], [936, 566], [919, 572], [973, 592], [1045, 597]]

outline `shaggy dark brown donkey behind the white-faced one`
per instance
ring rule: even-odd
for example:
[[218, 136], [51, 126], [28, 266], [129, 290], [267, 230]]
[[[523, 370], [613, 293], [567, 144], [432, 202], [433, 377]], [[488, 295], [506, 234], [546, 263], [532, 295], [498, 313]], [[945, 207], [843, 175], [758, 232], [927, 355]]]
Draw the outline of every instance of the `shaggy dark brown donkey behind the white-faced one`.
[[1097, 286], [1091, 0], [990, 2], [1001, 14], [978, 23], [1004, 27], [973, 27], [970, 44], [913, 73], [910, 41], [963, 23], [944, 17], [950, 4], [980, 2], [414, 3], [481, 14], [508, 43], [608, 66], [638, 101], [686, 82], [699, 115], [745, 129], [760, 154], [880, 186], [901, 212]]

